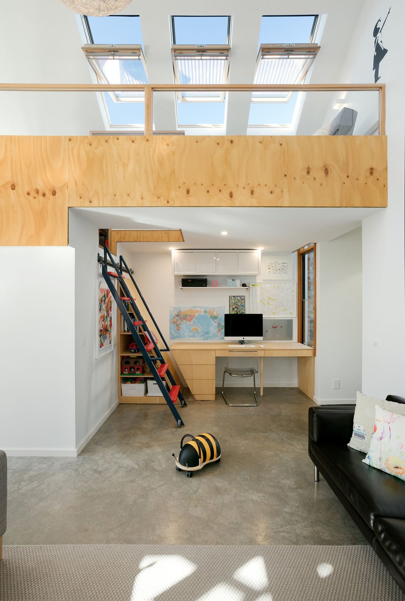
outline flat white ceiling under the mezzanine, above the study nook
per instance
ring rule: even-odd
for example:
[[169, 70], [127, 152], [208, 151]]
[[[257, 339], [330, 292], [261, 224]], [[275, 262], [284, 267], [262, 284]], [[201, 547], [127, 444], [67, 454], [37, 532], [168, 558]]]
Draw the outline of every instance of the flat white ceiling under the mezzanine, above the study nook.
[[[260, 248], [294, 251], [308, 242], [327, 242], [354, 230], [381, 209], [309, 207], [120, 207], [70, 209], [99, 228], [175, 230], [184, 242], [127, 243], [133, 252], [169, 252], [173, 248]], [[228, 231], [222, 236], [221, 231]]]

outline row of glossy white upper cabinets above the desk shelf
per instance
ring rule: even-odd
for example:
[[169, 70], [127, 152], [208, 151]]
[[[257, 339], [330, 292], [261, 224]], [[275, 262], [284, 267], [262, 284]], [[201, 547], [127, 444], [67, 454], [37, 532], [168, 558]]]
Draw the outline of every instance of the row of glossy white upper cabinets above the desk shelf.
[[173, 275], [258, 275], [260, 251], [172, 251]]

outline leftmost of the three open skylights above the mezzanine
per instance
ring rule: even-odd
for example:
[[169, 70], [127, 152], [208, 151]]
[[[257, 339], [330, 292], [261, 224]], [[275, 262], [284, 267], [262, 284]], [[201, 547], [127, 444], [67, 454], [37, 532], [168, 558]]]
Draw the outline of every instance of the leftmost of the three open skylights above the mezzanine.
[[[147, 84], [141, 21], [139, 16], [84, 16], [88, 44], [85, 55], [99, 82]], [[144, 93], [103, 93], [109, 124], [144, 127]]]

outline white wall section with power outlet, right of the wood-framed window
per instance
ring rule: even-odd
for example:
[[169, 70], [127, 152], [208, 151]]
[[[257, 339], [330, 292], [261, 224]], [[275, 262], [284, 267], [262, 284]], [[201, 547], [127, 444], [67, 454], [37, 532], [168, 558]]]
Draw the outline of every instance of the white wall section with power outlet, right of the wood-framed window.
[[355, 401], [361, 371], [362, 231], [356, 228], [317, 245], [315, 402]]

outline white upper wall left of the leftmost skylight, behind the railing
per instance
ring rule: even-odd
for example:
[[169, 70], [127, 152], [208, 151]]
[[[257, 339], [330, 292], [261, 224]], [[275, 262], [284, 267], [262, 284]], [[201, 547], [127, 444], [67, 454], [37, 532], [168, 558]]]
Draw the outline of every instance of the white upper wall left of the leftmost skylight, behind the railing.
[[[0, 81], [91, 84], [75, 13], [57, 0], [2, 2]], [[0, 135], [88, 135], [104, 129], [94, 92], [1, 92]]]

